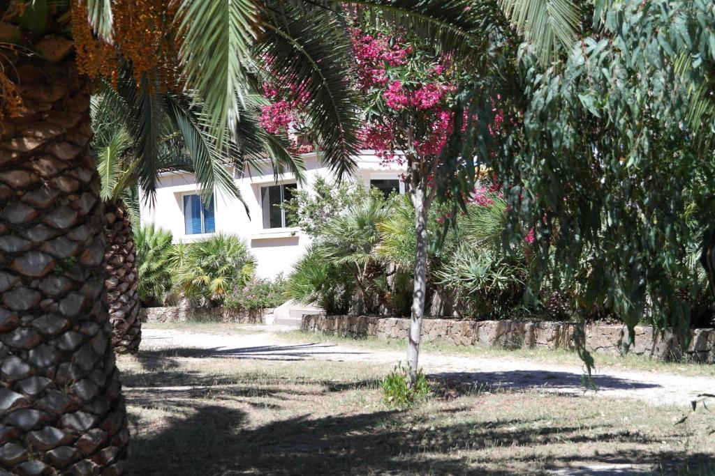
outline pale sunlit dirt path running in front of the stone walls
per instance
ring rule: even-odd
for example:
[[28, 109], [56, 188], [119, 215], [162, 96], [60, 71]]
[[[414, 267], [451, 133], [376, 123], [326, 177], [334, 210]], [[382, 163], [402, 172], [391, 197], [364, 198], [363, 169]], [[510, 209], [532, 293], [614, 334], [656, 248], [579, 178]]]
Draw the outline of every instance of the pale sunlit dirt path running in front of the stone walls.
[[[286, 343], [281, 326], [248, 326], [238, 335], [144, 329], [142, 349], [196, 348], [212, 355], [271, 360], [334, 360], [385, 364], [386, 370], [404, 359], [402, 352], [373, 350], [331, 343]], [[581, 368], [505, 358], [481, 358], [447, 353], [421, 353], [425, 373], [506, 388], [583, 394]], [[638, 398], [654, 405], [686, 407], [699, 393], [715, 393], [715, 378], [654, 372], [602, 370], [594, 376], [596, 395]], [[593, 394], [593, 392], [589, 392]]]

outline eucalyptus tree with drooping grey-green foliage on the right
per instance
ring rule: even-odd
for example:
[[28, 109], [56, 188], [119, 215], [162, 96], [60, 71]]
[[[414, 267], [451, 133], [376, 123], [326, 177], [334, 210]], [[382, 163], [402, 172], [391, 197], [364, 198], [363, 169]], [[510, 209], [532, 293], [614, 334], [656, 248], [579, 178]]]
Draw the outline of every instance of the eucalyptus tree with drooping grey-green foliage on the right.
[[534, 229], [536, 278], [608, 303], [627, 325], [624, 350], [644, 320], [687, 344], [698, 236], [714, 269], [715, 5], [580, 3], [583, 37], [546, 65], [524, 49], [523, 88], [503, 101], [491, 162], [508, 227]]

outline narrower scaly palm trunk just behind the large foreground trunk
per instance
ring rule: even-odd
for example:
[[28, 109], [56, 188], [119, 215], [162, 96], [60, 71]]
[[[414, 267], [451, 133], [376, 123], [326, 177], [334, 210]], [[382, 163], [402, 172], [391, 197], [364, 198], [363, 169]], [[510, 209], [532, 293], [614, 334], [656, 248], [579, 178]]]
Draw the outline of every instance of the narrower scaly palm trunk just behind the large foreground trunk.
[[137, 249], [134, 246], [132, 223], [124, 204], [104, 203], [107, 218], [107, 304], [109, 322], [112, 323], [112, 345], [118, 354], [134, 354], [142, 341], [142, 323], [139, 321], [139, 273]]

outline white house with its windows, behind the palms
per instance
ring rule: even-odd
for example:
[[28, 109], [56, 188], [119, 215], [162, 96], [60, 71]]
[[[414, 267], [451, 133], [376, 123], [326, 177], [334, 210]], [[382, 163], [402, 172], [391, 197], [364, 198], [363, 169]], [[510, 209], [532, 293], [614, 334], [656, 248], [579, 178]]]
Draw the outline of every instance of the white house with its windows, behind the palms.
[[[376, 186], [386, 193], [393, 188], [404, 193], [405, 184], [399, 178], [403, 169], [396, 165], [381, 166], [380, 159], [370, 152], [356, 158], [358, 167], [347, 179], [362, 182], [366, 187]], [[203, 207], [200, 186], [190, 173], [162, 173], [153, 206], [142, 200], [142, 223], [154, 223], [169, 230], [175, 242], [184, 243], [212, 233], [233, 233], [250, 245], [258, 261], [258, 275], [273, 278], [278, 273], [287, 274], [310, 238], [299, 228], [287, 227], [285, 212], [277, 205], [289, 199], [293, 189], [310, 188], [317, 176], [333, 178], [327, 167], [317, 161], [315, 153], [302, 157], [307, 168], [302, 186], [292, 173], [282, 174], [276, 181], [270, 166], [262, 172], [250, 168], [234, 171], [235, 183], [250, 217], [237, 198], [218, 191], [212, 203]]]

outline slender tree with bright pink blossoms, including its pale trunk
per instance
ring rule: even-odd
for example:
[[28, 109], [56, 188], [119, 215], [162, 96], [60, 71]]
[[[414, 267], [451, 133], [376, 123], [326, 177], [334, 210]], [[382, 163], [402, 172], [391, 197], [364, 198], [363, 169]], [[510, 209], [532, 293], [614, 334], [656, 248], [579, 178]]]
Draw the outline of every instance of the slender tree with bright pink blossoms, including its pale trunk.
[[[403, 181], [415, 209], [417, 247], [408, 339], [414, 384], [427, 288], [430, 208], [435, 199], [458, 198], [463, 205], [469, 200], [475, 177], [473, 156], [488, 153], [485, 138], [495, 136], [501, 115], [489, 94], [478, 101], [465, 100], [461, 94], [462, 83], [470, 83], [468, 91], [478, 90], [473, 83], [478, 68], [470, 76], [455, 64], [452, 54], [439, 53], [435, 45], [386, 23], [365, 27], [358, 17], [352, 17], [355, 26], [348, 32], [353, 52], [349, 81], [366, 105], [360, 139], [383, 163], [406, 166]], [[300, 86], [292, 84], [287, 78], [264, 86], [270, 103], [262, 106], [260, 122], [271, 133], [290, 136], [305, 127]], [[451, 187], [457, 178], [459, 186]]]

